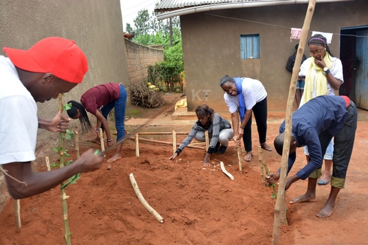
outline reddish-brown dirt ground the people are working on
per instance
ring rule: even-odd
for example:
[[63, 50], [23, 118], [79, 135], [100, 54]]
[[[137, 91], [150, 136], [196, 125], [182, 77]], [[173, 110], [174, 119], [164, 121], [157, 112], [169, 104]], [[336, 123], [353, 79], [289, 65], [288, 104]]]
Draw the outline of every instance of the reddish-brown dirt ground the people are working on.
[[[160, 110], [160, 109], [158, 109]], [[170, 109], [168, 109], [167, 112]], [[150, 113], [154, 114], [154, 110]], [[192, 125], [150, 127], [144, 131], [188, 132]], [[205, 151], [186, 148], [176, 161], [170, 161], [172, 147], [140, 142], [140, 156], [135, 156], [134, 141], [123, 145], [123, 158], [83, 173], [67, 187], [69, 225], [72, 244], [271, 244], [275, 199], [272, 189], [261, 186], [258, 140], [253, 124], [251, 162], [243, 160], [239, 172], [237, 151], [231, 142], [225, 154], [211, 158], [213, 166], [203, 168]], [[269, 123], [267, 141], [273, 145], [279, 123]], [[134, 127], [127, 127], [128, 132]], [[368, 123], [359, 121], [354, 151], [348, 168], [345, 188], [337, 198], [337, 210], [328, 218], [316, 216], [323, 207], [330, 185], [317, 186], [317, 201], [287, 205], [288, 226], [281, 226], [280, 244], [366, 244], [368, 212], [365, 186]], [[90, 135], [83, 135], [90, 137]], [[163, 135], [142, 136], [171, 141]], [[178, 136], [178, 142], [184, 136]], [[90, 146], [81, 144], [81, 151]], [[75, 159], [72, 150], [71, 159]], [[113, 153], [109, 153], [106, 158]], [[263, 159], [272, 171], [280, 166], [275, 151], [263, 151]], [[302, 149], [290, 174], [305, 165]], [[234, 176], [230, 180], [220, 169]], [[38, 171], [45, 171], [43, 159], [37, 160]], [[163, 218], [160, 223], [141, 205], [129, 181], [133, 173], [149, 205]], [[287, 191], [287, 201], [304, 194], [307, 181], [294, 183]], [[0, 244], [64, 244], [60, 187], [21, 200], [22, 229], [15, 230], [13, 201], [0, 214]]]

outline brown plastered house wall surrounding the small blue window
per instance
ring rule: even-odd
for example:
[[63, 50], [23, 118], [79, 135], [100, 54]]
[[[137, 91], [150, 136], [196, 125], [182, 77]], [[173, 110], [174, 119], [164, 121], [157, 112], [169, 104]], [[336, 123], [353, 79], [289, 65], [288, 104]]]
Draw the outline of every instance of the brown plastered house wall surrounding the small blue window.
[[[295, 4], [181, 16], [188, 111], [205, 103], [219, 113], [228, 112], [219, 86], [224, 75], [259, 79], [268, 93], [268, 111], [285, 111], [291, 79], [285, 65], [299, 43], [290, 42], [290, 28], [302, 28], [306, 11], [306, 4]], [[363, 0], [316, 4], [307, 38], [312, 31], [340, 33], [340, 28], [367, 24]], [[259, 59], [240, 59], [241, 34], [260, 35]], [[339, 39], [333, 35], [330, 44], [336, 57]]]

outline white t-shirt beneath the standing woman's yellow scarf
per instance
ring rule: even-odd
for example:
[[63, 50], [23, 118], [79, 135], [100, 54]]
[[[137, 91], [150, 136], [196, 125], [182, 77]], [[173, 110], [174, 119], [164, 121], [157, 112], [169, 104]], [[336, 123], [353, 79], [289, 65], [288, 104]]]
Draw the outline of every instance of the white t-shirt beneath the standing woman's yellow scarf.
[[[301, 77], [305, 77], [306, 73], [308, 72], [308, 65], [307, 64], [311, 64], [311, 58], [307, 58], [303, 64], [300, 66], [300, 72], [299, 72], [299, 76]], [[342, 64], [341, 64], [341, 60], [336, 58], [336, 57], [331, 57], [331, 60], [333, 61], [334, 65], [332, 66], [332, 68], [330, 69], [331, 74], [336, 78], [336, 79], [340, 79], [342, 81], [342, 83], [344, 83], [344, 78], [342, 76]], [[317, 70], [314, 70], [314, 77], [316, 78], [317, 76]], [[342, 84], [341, 83], [341, 84]], [[302, 95], [302, 98], [300, 99], [300, 106], [299, 108], [304, 104], [304, 94]], [[331, 88], [330, 84], [327, 81], [327, 95], [335, 95], [335, 91], [333, 88]], [[317, 97], [316, 94], [316, 81], [313, 82], [313, 92], [312, 92], [312, 96], [313, 98]]]

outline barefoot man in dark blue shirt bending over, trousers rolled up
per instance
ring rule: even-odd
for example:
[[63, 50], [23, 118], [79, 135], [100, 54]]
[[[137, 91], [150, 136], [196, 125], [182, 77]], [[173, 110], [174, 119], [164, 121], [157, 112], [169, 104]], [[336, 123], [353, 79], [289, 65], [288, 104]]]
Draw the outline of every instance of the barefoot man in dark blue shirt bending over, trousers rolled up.
[[[317, 216], [326, 218], [335, 211], [335, 200], [344, 187], [347, 166], [353, 151], [357, 128], [357, 109], [353, 101], [346, 96], [318, 96], [309, 100], [293, 113], [292, 137], [288, 158], [287, 173], [293, 167], [298, 147], [308, 147], [309, 162], [295, 175], [286, 179], [285, 190], [299, 179], [308, 178], [308, 187], [304, 195], [294, 197], [290, 203], [316, 201], [316, 184], [321, 176], [323, 155], [328, 142], [334, 137], [333, 175], [331, 192], [324, 207]], [[276, 151], [282, 155], [285, 121], [280, 126], [280, 134], [275, 138]], [[280, 170], [266, 177], [272, 184], [280, 178]]]

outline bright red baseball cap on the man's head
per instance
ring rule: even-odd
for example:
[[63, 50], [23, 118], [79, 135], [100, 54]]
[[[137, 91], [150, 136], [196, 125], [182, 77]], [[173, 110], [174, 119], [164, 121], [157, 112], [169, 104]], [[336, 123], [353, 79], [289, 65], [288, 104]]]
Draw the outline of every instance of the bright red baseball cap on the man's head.
[[56, 77], [80, 84], [88, 71], [87, 58], [73, 40], [47, 37], [28, 50], [4, 47], [17, 68], [30, 72], [52, 73]]

